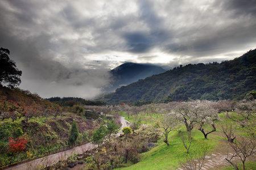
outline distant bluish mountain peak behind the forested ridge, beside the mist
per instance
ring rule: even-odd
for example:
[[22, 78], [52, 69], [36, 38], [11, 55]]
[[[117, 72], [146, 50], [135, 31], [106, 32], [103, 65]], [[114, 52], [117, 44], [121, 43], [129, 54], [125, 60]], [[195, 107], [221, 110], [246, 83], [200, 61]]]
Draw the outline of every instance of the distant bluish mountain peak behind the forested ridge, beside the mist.
[[154, 74], [160, 74], [164, 71], [166, 70], [162, 69], [162, 67], [147, 63], [123, 63], [110, 71], [113, 79], [111, 82], [112, 87], [109, 87], [106, 91], [114, 91], [121, 86], [126, 86], [127, 84], [137, 82], [139, 79], [144, 79]]

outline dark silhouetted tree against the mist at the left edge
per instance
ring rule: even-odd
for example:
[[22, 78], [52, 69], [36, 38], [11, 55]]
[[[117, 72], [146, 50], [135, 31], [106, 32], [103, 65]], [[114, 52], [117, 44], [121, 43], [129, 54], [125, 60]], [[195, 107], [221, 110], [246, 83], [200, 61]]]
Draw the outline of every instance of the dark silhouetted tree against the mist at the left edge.
[[0, 49], [0, 83], [8, 83], [8, 87], [19, 86], [22, 71], [16, 68], [16, 64], [9, 58], [9, 49]]

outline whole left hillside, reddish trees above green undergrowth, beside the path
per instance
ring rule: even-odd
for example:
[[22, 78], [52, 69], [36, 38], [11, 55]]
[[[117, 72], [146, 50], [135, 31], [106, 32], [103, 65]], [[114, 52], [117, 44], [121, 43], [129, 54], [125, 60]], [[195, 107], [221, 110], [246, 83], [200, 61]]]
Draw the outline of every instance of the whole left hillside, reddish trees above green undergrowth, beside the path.
[[73, 120], [79, 130], [76, 144], [88, 142], [97, 124], [68, 112], [74, 108], [66, 107], [63, 111], [56, 103], [37, 94], [0, 85], [0, 168], [17, 158], [18, 149], [10, 151], [9, 147], [13, 139], [20, 140], [15, 146], [26, 145], [26, 150], [19, 153], [18, 158], [31, 159], [40, 156], [38, 154], [47, 155], [57, 148], [69, 147], [69, 129]]

